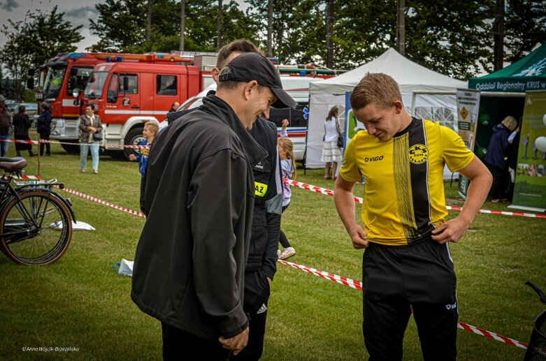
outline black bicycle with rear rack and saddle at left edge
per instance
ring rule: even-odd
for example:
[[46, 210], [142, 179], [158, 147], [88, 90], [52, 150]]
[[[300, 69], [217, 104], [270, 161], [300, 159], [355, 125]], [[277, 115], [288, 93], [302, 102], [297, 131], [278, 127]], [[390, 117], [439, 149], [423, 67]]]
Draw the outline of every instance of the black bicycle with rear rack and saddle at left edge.
[[20, 265], [49, 265], [68, 249], [76, 214], [52, 189], [64, 188], [57, 179], [15, 181], [26, 165], [23, 157], [0, 158], [0, 250]]

